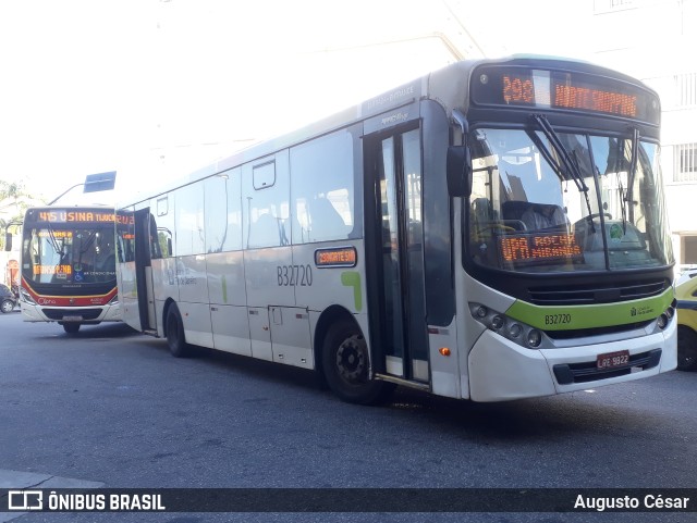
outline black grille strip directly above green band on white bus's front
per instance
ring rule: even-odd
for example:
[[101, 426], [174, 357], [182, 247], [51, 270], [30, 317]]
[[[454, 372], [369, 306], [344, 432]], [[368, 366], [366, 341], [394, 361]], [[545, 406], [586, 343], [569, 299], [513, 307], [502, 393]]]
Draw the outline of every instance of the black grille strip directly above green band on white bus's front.
[[628, 301], [658, 296], [668, 288], [669, 283], [661, 278], [653, 282], [583, 285], [571, 287], [530, 287], [530, 302], [536, 306], [582, 306]]

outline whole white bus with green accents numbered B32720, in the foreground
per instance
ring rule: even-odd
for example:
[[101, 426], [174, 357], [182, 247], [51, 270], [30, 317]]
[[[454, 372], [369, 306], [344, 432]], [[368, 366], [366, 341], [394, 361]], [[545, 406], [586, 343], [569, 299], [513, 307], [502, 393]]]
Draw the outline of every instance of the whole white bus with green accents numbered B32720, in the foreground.
[[659, 124], [656, 94], [607, 69], [453, 64], [119, 206], [124, 321], [359, 403], [670, 371]]

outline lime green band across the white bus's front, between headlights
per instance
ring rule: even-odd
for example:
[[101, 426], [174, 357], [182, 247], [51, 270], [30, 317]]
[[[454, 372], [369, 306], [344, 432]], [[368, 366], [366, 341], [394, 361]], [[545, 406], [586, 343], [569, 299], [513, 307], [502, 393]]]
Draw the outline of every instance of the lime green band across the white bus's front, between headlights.
[[672, 301], [671, 287], [660, 296], [621, 303], [543, 307], [517, 300], [505, 314], [542, 331], [573, 331], [653, 320], [665, 311]]

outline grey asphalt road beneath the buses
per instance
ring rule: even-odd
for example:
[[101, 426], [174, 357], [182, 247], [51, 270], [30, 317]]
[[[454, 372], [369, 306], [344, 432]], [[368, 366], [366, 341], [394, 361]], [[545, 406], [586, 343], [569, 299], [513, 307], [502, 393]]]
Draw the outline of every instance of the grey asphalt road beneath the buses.
[[[12, 313], [0, 315], [0, 333], [5, 477], [108, 488], [697, 487], [697, 373], [498, 404], [400, 390], [366, 408], [318, 390], [309, 372], [213, 351], [175, 359], [162, 340], [120, 324], [71, 337]], [[35, 513], [13, 522], [600, 518], [697, 514]]]

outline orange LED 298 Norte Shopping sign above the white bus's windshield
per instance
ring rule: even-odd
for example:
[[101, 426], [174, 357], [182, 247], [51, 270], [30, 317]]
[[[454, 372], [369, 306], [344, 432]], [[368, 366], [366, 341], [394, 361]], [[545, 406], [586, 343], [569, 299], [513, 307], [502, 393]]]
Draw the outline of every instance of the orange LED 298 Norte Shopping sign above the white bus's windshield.
[[522, 66], [477, 70], [472, 86], [478, 104], [587, 111], [658, 123], [660, 104], [649, 90], [586, 73]]

